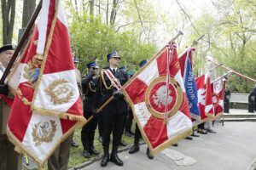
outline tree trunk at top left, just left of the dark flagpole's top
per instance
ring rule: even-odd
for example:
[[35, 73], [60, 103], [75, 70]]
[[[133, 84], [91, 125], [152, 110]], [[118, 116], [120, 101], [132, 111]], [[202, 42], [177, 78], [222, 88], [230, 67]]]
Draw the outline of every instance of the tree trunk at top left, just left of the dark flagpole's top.
[[23, 0], [22, 28], [25, 28], [36, 9], [35, 0]]

